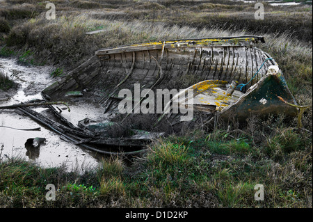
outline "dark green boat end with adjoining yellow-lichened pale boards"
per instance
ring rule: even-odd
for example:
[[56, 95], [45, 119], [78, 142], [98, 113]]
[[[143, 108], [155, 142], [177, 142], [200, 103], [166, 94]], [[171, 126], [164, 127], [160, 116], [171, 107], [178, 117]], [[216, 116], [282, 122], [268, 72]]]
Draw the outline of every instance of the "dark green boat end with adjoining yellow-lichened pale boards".
[[[215, 113], [215, 116], [218, 115], [219, 118], [226, 121], [235, 119], [243, 122], [251, 115], [268, 116], [272, 114], [275, 116], [280, 113], [287, 116], [297, 115], [296, 106], [288, 104], [284, 106], [280, 100], [280, 97], [284, 97], [291, 101], [291, 104], [296, 104], [277, 65], [271, 65], [267, 74], [256, 84], [250, 86], [246, 93], [239, 90], [243, 86], [246, 84], [238, 85], [237, 81], [232, 81], [232, 84], [228, 84], [227, 81], [202, 81], [185, 89], [193, 89], [192, 102], [187, 101], [186, 97], [182, 97], [180, 99], [182, 102], [179, 102], [177, 95], [171, 102], [176, 102], [177, 106], [191, 106], [191, 109], [197, 111]], [[170, 108], [164, 113], [171, 113]], [[214, 119], [211, 118], [211, 120]]]

